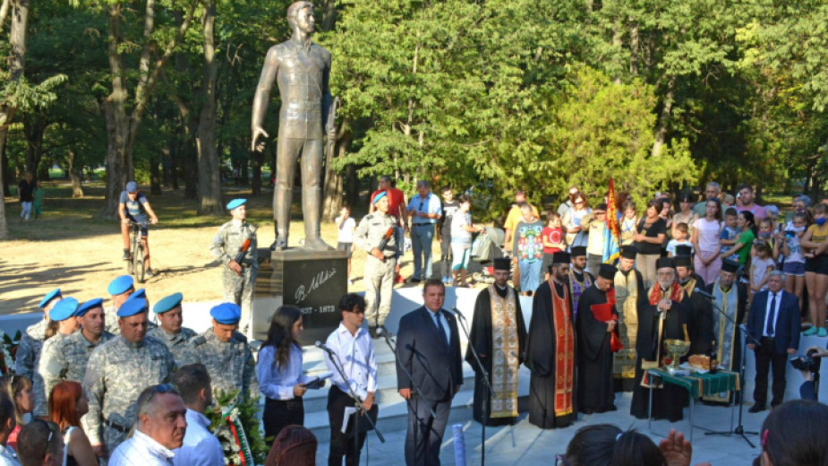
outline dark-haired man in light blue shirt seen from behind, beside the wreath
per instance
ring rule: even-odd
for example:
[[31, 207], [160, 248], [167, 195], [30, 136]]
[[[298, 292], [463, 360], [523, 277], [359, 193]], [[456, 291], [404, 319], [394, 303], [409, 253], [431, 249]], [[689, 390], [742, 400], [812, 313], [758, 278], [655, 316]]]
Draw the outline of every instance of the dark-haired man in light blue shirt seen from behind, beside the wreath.
[[210, 433], [209, 419], [204, 416], [213, 402], [213, 390], [207, 367], [203, 364], [183, 366], [173, 375], [173, 384], [181, 391], [187, 409], [187, 432], [184, 444], [175, 450], [174, 466], [224, 466], [224, 453], [218, 438]]

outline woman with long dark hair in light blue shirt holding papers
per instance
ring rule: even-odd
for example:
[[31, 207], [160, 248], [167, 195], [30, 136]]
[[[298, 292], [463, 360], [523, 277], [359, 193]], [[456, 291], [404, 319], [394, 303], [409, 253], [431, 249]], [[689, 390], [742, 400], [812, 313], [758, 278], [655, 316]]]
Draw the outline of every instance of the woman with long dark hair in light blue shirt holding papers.
[[259, 390], [266, 397], [261, 419], [266, 442], [273, 442], [291, 424], [304, 424], [302, 397], [308, 387], [303, 384], [299, 346], [303, 329], [302, 311], [294, 306], [280, 306], [270, 319], [268, 339], [259, 350], [257, 373]]

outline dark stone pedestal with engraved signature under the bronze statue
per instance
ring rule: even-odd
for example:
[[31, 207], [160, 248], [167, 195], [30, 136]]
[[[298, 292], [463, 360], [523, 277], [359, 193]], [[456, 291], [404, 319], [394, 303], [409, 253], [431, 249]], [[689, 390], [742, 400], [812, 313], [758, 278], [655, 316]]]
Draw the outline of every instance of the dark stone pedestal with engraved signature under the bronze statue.
[[260, 263], [253, 291], [252, 337], [268, 337], [270, 318], [278, 306], [299, 307], [303, 313], [302, 344], [325, 341], [339, 325], [339, 298], [348, 292], [348, 257], [344, 251], [260, 251], [269, 260]]

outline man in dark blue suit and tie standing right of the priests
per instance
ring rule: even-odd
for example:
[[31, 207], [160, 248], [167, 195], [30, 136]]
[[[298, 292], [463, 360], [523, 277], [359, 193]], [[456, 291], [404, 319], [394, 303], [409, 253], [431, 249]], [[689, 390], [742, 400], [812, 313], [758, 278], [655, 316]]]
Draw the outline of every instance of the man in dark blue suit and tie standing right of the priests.
[[782, 289], [785, 275], [771, 272], [768, 289], [757, 293], [747, 316], [747, 330], [761, 341], [754, 350], [756, 380], [753, 407], [748, 412], [765, 410], [768, 396], [768, 367], [773, 367], [773, 400], [771, 407], [782, 404], [785, 398], [785, 365], [788, 355], [799, 348], [799, 305], [797, 297]]

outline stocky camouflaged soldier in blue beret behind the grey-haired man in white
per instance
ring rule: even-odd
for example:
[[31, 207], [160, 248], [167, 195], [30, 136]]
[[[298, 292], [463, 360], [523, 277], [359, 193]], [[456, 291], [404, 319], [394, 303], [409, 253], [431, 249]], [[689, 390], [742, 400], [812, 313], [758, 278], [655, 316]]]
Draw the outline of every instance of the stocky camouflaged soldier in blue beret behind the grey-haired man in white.
[[121, 335], [92, 351], [83, 378], [90, 399], [87, 435], [92, 448], [103, 456], [126, 439], [137, 418], [135, 400], [141, 391], [168, 382], [175, 371], [166, 345], [146, 336], [143, 299], [126, 301], [118, 308], [118, 325]]

